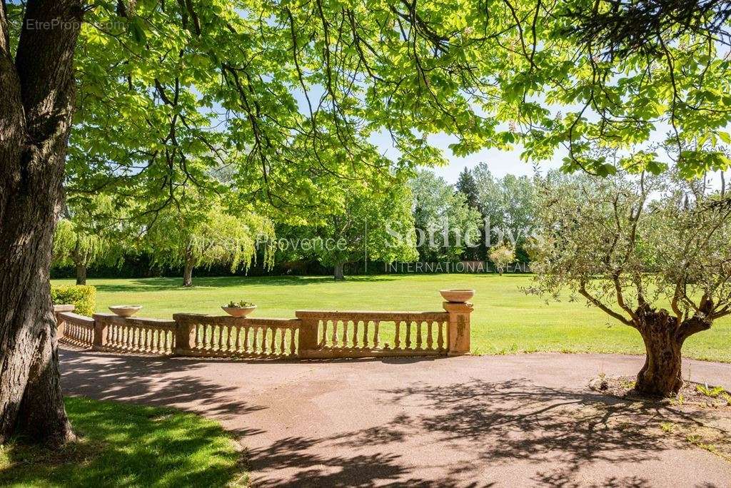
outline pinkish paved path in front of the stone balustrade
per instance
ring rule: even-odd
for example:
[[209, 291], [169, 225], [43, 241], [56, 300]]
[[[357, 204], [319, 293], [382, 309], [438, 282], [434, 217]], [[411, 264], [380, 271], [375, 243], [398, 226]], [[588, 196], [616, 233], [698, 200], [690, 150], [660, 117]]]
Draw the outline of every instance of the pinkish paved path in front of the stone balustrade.
[[[219, 419], [248, 449], [258, 487], [730, 487], [729, 463], [648, 435], [667, 409], [637, 413], [586, 388], [602, 370], [641, 365], [596, 354], [227, 362], [61, 351], [69, 394]], [[731, 365], [686, 361], [686, 378], [689, 366], [694, 381], [731, 387]], [[713, 422], [731, 430], [727, 416]]]

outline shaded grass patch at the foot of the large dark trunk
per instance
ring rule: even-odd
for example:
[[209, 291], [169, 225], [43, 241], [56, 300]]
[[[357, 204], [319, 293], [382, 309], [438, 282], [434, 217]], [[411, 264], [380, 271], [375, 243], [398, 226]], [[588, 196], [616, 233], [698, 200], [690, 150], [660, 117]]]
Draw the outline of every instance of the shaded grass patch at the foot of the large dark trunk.
[[0, 486], [245, 486], [239, 453], [219, 424], [192, 413], [67, 397], [80, 440], [60, 451], [0, 445]]

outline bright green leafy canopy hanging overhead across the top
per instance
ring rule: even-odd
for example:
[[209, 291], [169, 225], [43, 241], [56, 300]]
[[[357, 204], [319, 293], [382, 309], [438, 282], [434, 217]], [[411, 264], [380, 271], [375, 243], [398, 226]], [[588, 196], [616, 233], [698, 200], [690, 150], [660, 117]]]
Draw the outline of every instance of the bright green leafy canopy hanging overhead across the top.
[[[229, 191], [210, 170], [230, 167], [240, 199], [301, 221], [344, 209], [329, 191], [339, 180], [378, 186], [443, 163], [427, 142], [437, 133], [457, 138], [458, 156], [522, 145], [539, 161], [565, 148], [564, 169], [598, 175], [728, 167], [727, 45], [670, 29], [656, 49], [607, 57], [575, 12], [611, 4], [97, 2], [77, 45], [69, 187], [155, 213], [183, 186]], [[374, 134], [398, 158], [379, 157]]]

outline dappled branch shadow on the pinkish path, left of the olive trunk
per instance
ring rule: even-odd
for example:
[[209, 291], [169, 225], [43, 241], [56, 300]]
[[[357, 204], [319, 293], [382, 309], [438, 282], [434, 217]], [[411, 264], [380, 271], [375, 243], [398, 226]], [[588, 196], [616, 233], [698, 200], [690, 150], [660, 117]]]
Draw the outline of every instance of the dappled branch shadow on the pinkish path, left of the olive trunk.
[[[626, 468], [659, 460], [662, 451], [682, 446], [664, 435], [659, 424], [700, 424], [706, 416], [713, 417], [703, 412], [690, 416], [671, 405], [534, 386], [523, 380], [472, 379], [378, 393], [385, 402], [404, 405], [405, 413], [378, 427], [325, 438], [285, 438], [252, 450], [249, 462], [256, 485], [515, 486], [518, 481], [505, 479], [501, 471], [520, 463], [532, 486], [592, 486], [586, 482], [589, 473], [597, 487], [648, 487], [653, 484], [650, 479], [624, 476]], [[416, 449], [409, 442], [414, 439], [458, 451], [464, 462], [406, 463], [404, 459]], [[325, 454], [332, 452], [339, 454]], [[592, 478], [596, 462], [616, 465], [615, 474], [597, 473]], [[436, 468], [443, 474], [439, 479], [424, 479], [421, 468]], [[683, 470], [682, 463], [668, 468]], [[582, 476], [577, 474], [580, 471]], [[257, 473], [264, 476], [257, 479]]]

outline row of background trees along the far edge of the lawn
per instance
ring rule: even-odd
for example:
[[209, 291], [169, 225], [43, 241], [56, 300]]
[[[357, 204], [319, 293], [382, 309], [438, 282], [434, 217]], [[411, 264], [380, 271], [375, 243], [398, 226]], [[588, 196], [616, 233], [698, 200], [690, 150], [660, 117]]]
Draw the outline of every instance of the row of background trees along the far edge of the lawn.
[[[535, 178], [495, 178], [488, 164], [466, 168], [455, 185], [429, 169], [394, 179], [378, 193], [352, 185], [340, 208], [276, 221], [253, 207], [189, 191], [181, 205], [154, 216], [115, 204], [113, 195], [69, 195], [53, 239], [53, 266], [71, 268], [86, 284], [89, 268], [113, 270], [143, 257], [149, 270], [180, 270], [192, 286], [196, 268], [258, 264], [270, 272], [330, 267], [344, 279], [347, 264], [363, 262], [527, 262], [534, 227]], [[298, 245], [299, 243], [299, 245]], [[329, 243], [329, 244], [328, 244]], [[500, 256], [500, 257], [496, 257]], [[506, 259], [507, 257], [507, 259]]]

